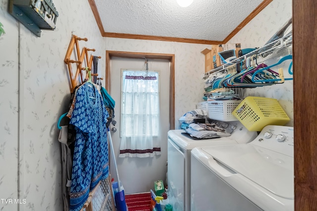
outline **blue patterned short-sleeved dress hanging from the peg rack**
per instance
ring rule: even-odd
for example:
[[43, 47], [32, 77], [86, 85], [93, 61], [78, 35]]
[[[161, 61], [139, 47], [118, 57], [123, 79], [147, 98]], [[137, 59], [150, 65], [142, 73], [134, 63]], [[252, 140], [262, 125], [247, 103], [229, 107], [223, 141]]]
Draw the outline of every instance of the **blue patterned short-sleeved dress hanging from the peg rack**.
[[76, 90], [70, 123], [75, 126], [70, 211], [80, 211], [89, 191], [108, 176], [106, 122], [108, 112], [101, 94], [90, 83]]

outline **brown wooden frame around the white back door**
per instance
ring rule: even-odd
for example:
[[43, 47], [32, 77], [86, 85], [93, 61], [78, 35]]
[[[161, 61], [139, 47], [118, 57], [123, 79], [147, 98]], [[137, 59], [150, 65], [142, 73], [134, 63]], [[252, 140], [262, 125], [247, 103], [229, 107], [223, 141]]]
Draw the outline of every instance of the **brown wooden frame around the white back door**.
[[164, 59], [170, 62], [169, 71], [169, 129], [175, 129], [175, 54], [142, 53], [106, 50], [106, 89], [110, 90], [110, 61], [112, 57], [137, 59]]

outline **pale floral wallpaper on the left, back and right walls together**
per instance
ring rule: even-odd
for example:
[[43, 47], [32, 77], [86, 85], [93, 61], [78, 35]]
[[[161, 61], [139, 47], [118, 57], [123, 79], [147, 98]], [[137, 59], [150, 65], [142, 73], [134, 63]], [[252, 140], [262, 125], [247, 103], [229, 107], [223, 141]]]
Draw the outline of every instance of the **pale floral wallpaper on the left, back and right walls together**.
[[[68, 70], [63, 60], [72, 32], [88, 38], [80, 47], [175, 54], [175, 126], [178, 118], [202, 101], [204, 60], [210, 45], [180, 42], [102, 38], [87, 0], [54, 0], [59, 13], [54, 31], [34, 36], [8, 12], [0, 0], [0, 211], [61, 211], [60, 144], [56, 127], [69, 102]], [[261, 46], [291, 16], [291, 0], [273, 0], [229, 43]], [[292, 116], [292, 82], [248, 90], [274, 97]], [[18, 168], [19, 167], [19, 168]], [[19, 187], [18, 187], [19, 185]], [[5, 190], [5, 191], [3, 191]], [[20, 201], [14, 201], [20, 199]], [[15, 202], [15, 203], [10, 203]], [[20, 202], [20, 203], [18, 203]]]

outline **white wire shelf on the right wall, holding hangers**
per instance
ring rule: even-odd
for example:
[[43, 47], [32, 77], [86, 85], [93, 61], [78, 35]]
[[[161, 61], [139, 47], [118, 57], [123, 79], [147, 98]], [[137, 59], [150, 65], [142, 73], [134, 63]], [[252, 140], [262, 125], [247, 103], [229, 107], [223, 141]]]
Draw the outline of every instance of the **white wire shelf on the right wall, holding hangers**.
[[277, 39], [273, 42], [270, 42], [266, 45], [264, 45], [261, 48], [258, 48], [250, 53], [247, 53], [241, 57], [238, 57], [230, 63], [226, 63], [220, 67], [217, 67], [207, 73], [205, 73], [205, 79], [208, 78], [209, 75], [215, 72], [219, 71], [224, 71], [226, 68], [234, 63], [238, 63], [240, 61], [245, 60], [246, 58], [249, 58], [251, 56], [256, 56], [257, 57], [257, 63], [263, 63], [265, 60], [278, 57], [278, 56], [283, 56], [287, 54], [292, 54], [292, 32], [289, 32], [287, 35], [285, 35], [281, 39]]

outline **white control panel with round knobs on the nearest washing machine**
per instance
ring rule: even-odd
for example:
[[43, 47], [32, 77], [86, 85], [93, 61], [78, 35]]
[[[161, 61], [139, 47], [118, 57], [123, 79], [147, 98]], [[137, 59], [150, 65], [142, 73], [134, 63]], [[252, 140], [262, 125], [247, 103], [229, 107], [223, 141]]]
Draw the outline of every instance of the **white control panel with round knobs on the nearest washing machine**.
[[266, 126], [251, 143], [293, 157], [294, 128]]

